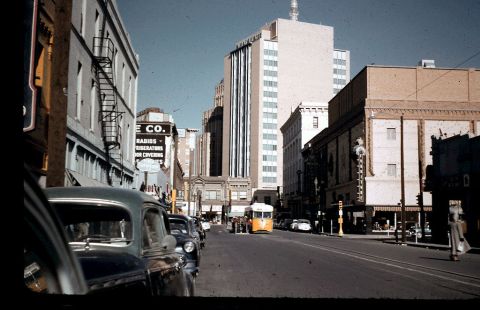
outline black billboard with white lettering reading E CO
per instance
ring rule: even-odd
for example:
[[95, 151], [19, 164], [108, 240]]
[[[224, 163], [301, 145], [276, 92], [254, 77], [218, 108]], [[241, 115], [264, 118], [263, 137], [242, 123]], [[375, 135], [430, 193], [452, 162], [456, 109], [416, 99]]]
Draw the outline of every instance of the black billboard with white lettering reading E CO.
[[165, 137], [172, 133], [170, 123], [137, 122], [135, 162], [151, 158], [164, 165]]

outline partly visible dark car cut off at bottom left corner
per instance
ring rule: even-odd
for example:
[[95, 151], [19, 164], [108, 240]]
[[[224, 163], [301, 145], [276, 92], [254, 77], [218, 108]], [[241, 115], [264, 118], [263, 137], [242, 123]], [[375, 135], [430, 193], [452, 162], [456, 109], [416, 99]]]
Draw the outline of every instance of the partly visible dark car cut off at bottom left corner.
[[24, 288], [29, 293], [86, 294], [87, 284], [63, 225], [43, 190], [23, 171]]

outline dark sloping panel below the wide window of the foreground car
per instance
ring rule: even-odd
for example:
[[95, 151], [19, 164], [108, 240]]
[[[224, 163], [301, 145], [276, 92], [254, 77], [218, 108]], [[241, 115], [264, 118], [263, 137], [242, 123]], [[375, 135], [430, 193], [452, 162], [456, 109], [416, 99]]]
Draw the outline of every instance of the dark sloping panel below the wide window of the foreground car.
[[[109, 250], [75, 251], [88, 284], [135, 281], [145, 277], [143, 260], [129, 253]], [[113, 282], [112, 282], [113, 281]]]

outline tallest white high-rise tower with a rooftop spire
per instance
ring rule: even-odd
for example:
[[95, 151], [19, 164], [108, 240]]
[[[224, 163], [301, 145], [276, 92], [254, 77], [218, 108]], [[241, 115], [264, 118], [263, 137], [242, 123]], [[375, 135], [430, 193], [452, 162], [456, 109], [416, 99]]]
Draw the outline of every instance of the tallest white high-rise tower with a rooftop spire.
[[283, 182], [280, 127], [290, 112], [302, 101], [332, 98], [334, 62], [335, 79], [342, 80], [336, 86], [349, 74], [348, 53], [334, 53], [333, 28], [295, 19], [298, 5], [292, 3], [292, 20], [266, 24], [224, 59], [222, 175], [250, 178], [259, 202], [276, 204]]

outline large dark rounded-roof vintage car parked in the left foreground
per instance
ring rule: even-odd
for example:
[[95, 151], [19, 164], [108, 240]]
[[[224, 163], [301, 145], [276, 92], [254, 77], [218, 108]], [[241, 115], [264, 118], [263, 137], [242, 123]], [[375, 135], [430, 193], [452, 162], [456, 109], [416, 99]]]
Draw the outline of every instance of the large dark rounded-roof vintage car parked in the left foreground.
[[193, 277], [175, 252], [176, 240], [158, 200], [112, 187], [57, 187], [45, 193], [92, 293], [193, 295]]

